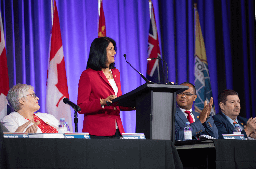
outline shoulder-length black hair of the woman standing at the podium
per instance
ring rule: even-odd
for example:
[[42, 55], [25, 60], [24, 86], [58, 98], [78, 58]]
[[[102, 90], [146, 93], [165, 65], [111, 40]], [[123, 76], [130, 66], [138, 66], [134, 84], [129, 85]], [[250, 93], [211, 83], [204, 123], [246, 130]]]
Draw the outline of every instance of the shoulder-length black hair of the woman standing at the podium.
[[[100, 37], [92, 41], [90, 47], [90, 54], [87, 61], [86, 69], [92, 68], [93, 70], [101, 70], [107, 68], [107, 52], [106, 49], [109, 43], [112, 42], [114, 45], [114, 50], [116, 51], [116, 42], [115, 40], [109, 37]], [[109, 65], [109, 69], [114, 69], [115, 63]]]

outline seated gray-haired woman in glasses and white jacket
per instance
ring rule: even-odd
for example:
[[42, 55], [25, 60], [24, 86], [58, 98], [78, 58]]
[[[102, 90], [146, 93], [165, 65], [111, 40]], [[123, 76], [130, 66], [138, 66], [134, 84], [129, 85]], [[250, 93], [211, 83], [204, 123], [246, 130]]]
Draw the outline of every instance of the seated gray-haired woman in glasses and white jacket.
[[1, 122], [10, 132], [58, 133], [58, 119], [47, 113], [35, 113], [40, 106], [33, 90], [34, 87], [27, 84], [13, 86], [6, 98], [14, 112]]

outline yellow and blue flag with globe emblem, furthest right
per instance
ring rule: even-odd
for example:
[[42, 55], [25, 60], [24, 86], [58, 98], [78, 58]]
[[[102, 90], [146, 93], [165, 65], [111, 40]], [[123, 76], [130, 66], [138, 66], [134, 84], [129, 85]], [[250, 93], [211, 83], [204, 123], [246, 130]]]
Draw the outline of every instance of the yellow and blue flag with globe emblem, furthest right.
[[[195, 111], [201, 113], [204, 108], [204, 101], [209, 103], [212, 97], [211, 81], [208, 69], [208, 63], [206, 58], [204, 37], [202, 34], [199, 14], [196, 4], [194, 4], [195, 10], [195, 87], [197, 98], [195, 100]], [[212, 105], [211, 115], [215, 115], [215, 106]]]

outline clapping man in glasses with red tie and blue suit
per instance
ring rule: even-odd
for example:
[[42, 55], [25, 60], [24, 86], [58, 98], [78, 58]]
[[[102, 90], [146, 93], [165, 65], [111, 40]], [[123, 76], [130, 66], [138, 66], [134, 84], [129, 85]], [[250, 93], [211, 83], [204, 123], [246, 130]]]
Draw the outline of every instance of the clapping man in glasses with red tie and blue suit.
[[196, 100], [196, 88], [192, 83], [184, 82], [180, 85], [188, 86], [189, 89], [176, 95], [176, 118], [175, 118], [175, 140], [184, 140], [184, 127], [190, 122], [192, 139], [198, 139], [200, 135], [206, 134], [218, 138], [218, 130], [211, 117], [213, 99], [207, 104], [201, 113], [192, 110], [193, 102]]

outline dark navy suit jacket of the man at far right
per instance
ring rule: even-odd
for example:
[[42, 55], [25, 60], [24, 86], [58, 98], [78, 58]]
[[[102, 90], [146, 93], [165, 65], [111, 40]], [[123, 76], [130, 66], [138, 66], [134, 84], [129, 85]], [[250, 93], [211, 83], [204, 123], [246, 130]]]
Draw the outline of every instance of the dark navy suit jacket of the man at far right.
[[[212, 117], [213, 117], [214, 123], [218, 129], [219, 139], [224, 139], [222, 134], [233, 134], [234, 133], [233, 131], [234, 131], [235, 127], [228, 121], [228, 119], [222, 112], [219, 112]], [[237, 116], [237, 121], [238, 121], [238, 124], [244, 128], [244, 125], [246, 125], [248, 119], [241, 117], [241, 116]], [[244, 130], [241, 131], [241, 134], [244, 135], [244, 138], [248, 137]]]

